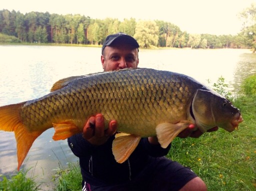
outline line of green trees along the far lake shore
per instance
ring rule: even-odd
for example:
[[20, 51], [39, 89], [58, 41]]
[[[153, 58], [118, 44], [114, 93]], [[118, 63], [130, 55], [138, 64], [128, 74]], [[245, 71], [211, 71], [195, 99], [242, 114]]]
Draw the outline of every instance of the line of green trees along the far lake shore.
[[125, 32], [133, 36], [141, 48], [250, 48], [252, 41], [241, 32], [237, 35], [189, 34], [163, 20], [135, 18], [93, 19], [80, 14], [50, 14], [0, 10], [0, 33], [29, 43], [69, 43], [101, 45], [106, 36]]

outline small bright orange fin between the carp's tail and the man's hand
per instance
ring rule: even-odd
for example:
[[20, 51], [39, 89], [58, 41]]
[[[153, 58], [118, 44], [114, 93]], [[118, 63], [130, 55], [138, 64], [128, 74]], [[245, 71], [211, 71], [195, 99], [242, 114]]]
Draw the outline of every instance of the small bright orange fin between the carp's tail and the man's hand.
[[55, 133], [52, 136], [54, 141], [64, 140], [68, 137], [71, 137], [77, 133], [80, 133], [81, 130], [76, 127], [72, 121], [66, 121], [62, 123], [52, 123]]

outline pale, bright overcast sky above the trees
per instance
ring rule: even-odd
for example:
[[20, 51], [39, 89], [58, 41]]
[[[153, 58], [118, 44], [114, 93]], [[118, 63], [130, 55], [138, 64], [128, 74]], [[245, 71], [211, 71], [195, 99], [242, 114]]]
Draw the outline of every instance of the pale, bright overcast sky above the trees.
[[[150, 2], [152, 1], [152, 2]], [[163, 20], [188, 33], [237, 34], [238, 14], [256, 0], [1, 0], [0, 10]]]

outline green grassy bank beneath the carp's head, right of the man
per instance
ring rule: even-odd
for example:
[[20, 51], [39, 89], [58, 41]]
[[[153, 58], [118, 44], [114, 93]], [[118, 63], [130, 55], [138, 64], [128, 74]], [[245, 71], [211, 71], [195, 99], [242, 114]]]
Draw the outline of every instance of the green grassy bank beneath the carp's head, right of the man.
[[256, 96], [238, 98], [233, 104], [244, 119], [238, 130], [219, 129], [198, 139], [176, 138], [167, 155], [190, 167], [208, 191], [256, 190]]

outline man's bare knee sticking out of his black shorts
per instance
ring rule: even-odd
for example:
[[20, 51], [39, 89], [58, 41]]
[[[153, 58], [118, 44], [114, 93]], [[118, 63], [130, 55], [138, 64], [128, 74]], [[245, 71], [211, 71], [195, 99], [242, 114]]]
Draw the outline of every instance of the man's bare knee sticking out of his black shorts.
[[185, 184], [179, 191], [207, 191], [207, 187], [199, 177], [195, 177]]

